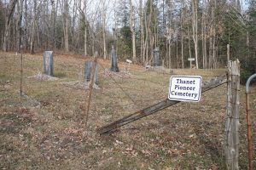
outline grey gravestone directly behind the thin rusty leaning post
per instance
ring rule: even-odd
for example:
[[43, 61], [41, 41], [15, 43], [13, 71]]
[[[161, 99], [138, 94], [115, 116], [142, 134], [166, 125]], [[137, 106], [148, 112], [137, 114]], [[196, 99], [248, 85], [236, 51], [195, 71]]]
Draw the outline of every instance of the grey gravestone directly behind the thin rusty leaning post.
[[[92, 60], [88, 60], [85, 61], [84, 63], [84, 77], [85, 77], [85, 82], [90, 82], [90, 77], [92, 69], [93, 69], [93, 65], [94, 65], [94, 61]], [[95, 75], [94, 75], [94, 83], [98, 84], [99, 79], [98, 79], [98, 65], [96, 64], [96, 68], [95, 68]]]

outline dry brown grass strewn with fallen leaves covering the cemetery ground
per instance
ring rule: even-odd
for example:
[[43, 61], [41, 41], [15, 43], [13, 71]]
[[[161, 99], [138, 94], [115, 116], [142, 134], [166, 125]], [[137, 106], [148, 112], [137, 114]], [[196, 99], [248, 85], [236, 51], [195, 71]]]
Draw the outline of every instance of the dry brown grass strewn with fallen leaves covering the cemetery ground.
[[[89, 93], [64, 85], [83, 81], [84, 60], [80, 56], [55, 56], [58, 79], [45, 81], [28, 78], [42, 70], [43, 57], [26, 54], [26, 97], [20, 99], [20, 58], [0, 53], [0, 168], [225, 168], [225, 85], [203, 94], [199, 103], [180, 103], [99, 136], [96, 128], [166, 99], [170, 74], [146, 71], [137, 65], [131, 65], [127, 72], [127, 65], [122, 63], [120, 73], [108, 74], [109, 62], [100, 59], [100, 89], [93, 91], [89, 126], [85, 128]], [[172, 74], [200, 75], [205, 81], [224, 74], [224, 70], [185, 69], [172, 70]], [[252, 91], [256, 92], [255, 86]], [[251, 94], [254, 113], [255, 97]], [[241, 86], [241, 169], [247, 169], [244, 99]], [[254, 114], [254, 127], [255, 121]]]

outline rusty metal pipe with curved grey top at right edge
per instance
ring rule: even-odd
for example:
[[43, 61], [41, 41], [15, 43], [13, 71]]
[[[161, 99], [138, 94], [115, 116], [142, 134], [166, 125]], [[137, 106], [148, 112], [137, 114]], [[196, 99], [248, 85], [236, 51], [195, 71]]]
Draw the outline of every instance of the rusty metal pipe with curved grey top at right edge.
[[253, 78], [256, 77], [256, 73], [248, 78], [246, 83], [246, 111], [247, 111], [247, 141], [248, 141], [248, 159], [249, 170], [253, 170], [253, 145], [252, 145], [252, 124], [249, 109], [249, 86]]

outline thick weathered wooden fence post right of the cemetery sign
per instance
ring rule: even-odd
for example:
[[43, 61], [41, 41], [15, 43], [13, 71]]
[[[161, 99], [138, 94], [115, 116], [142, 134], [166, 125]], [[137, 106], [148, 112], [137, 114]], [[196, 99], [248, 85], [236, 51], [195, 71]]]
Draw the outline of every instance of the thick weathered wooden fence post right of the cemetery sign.
[[238, 59], [229, 62], [228, 94], [227, 94], [227, 120], [226, 133], [226, 166], [227, 169], [236, 170], [239, 157], [239, 89], [240, 89], [240, 62]]

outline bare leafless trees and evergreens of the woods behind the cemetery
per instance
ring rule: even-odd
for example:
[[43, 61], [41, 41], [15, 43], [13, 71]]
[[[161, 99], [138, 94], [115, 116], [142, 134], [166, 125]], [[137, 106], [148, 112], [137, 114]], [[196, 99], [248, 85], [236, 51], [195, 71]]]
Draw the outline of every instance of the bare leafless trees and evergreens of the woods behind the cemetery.
[[167, 68], [215, 69], [228, 58], [255, 70], [256, 1], [0, 1], [3, 51], [54, 50], [152, 65], [154, 48]]

